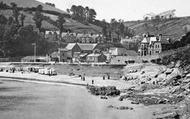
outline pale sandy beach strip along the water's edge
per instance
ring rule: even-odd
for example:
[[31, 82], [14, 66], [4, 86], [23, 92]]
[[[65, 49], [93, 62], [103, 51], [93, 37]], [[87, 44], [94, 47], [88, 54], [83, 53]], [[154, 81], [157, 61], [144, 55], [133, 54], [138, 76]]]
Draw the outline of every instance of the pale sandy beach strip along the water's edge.
[[[54, 84], [65, 84], [65, 85], [73, 85], [73, 86], [82, 86], [85, 87], [87, 85], [93, 86], [115, 86], [117, 89], [127, 89], [132, 86], [122, 80], [103, 80], [102, 77], [86, 77], [85, 81], [82, 81], [80, 77], [77, 76], [68, 76], [68, 75], [41, 75], [37, 73], [24, 73], [15, 72], [0, 72], [1, 79], [10, 79], [10, 80], [20, 80], [20, 81], [37, 81], [44, 83], [54, 83]], [[92, 84], [92, 80], [94, 84]]]

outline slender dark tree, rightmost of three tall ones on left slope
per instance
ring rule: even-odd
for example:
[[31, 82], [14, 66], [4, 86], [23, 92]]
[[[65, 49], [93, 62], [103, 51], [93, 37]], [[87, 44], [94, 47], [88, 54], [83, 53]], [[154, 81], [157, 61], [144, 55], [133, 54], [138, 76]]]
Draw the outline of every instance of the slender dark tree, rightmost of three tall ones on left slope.
[[57, 19], [57, 21], [56, 21], [56, 26], [59, 28], [59, 37], [61, 38], [61, 34], [62, 34], [62, 32], [63, 32], [63, 30], [64, 30], [64, 27], [63, 27], [63, 24], [65, 23], [66, 21], [65, 21], [65, 18], [64, 18], [64, 16], [62, 15], [62, 14], [60, 14], [59, 16], [58, 16], [58, 19]]

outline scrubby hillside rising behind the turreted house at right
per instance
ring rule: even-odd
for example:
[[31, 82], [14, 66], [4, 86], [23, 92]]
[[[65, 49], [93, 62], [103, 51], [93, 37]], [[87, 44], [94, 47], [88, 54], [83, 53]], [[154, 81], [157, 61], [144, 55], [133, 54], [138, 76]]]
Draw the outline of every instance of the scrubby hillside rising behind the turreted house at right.
[[[177, 41], [188, 30], [190, 17], [173, 18], [168, 20], [151, 21], [128, 21], [125, 26], [133, 29], [135, 35], [150, 33], [152, 35], [162, 34], [163, 37]], [[185, 30], [186, 29], [186, 30]]]

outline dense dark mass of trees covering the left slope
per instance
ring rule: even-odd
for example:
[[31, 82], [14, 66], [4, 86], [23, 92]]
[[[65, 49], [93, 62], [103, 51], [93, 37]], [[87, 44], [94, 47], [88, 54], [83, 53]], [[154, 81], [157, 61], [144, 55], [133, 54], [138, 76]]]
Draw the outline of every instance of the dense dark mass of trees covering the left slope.
[[[38, 55], [49, 53], [52, 43], [46, 41], [44, 36], [37, 32], [32, 25], [24, 25], [25, 15], [20, 13], [15, 3], [11, 3], [10, 8], [12, 16], [6, 18], [4, 15], [0, 15], [0, 57], [33, 55], [32, 43], [37, 43]], [[42, 21], [44, 20], [42, 9], [41, 5], [37, 6], [33, 17], [39, 31], [42, 31]]]

